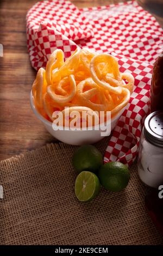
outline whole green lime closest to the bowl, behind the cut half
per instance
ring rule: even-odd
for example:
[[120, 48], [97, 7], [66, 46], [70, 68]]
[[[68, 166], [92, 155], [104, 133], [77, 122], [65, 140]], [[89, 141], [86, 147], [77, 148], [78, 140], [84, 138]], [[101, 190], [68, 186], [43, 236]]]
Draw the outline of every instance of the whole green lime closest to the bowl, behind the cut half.
[[82, 145], [74, 153], [72, 163], [78, 173], [82, 170], [90, 170], [96, 173], [103, 164], [103, 156], [93, 145]]

